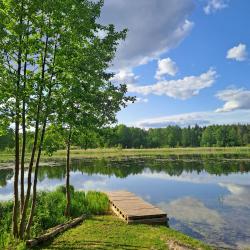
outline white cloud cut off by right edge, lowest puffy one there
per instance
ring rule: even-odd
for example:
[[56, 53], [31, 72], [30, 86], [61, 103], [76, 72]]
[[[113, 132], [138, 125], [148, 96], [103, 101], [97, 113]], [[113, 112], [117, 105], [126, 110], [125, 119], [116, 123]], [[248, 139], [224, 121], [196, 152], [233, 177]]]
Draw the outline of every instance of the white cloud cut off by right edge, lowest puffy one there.
[[246, 89], [226, 89], [218, 92], [216, 97], [224, 101], [222, 108], [218, 108], [217, 112], [228, 112], [237, 109], [250, 110], [250, 90]]

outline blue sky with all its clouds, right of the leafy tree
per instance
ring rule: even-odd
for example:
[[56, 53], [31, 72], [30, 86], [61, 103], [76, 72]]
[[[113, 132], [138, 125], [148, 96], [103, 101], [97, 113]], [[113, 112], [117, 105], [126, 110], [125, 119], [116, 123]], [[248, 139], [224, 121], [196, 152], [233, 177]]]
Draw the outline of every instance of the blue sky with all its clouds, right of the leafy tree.
[[129, 29], [113, 80], [138, 98], [119, 123], [249, 123], [249, 12], [246, 0], [106, 0], [101, 21]]

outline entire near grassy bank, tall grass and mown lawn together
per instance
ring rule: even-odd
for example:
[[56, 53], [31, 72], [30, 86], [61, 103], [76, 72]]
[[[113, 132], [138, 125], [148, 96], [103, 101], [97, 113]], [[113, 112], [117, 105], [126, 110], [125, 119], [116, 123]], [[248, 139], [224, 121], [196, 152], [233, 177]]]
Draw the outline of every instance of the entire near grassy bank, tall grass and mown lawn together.
[[[68, 220], [63, 215], [65, 190], [38, 195], [32, 237]], [[166, 226], [127, 225], [116, 216], [107, 214], [106, 195], [98, 192], [73, 192], [72, 217], [89, 214], [81, 225], [70, 229], [45, 245], [34, 249], [168, 249], [169, 245], [185, 246], [181, 249], [210, 249], [195, 240]], [[0, 203], [0, 249], [27, 249], [24, 242], [15, 242], [10, 236], [12, 203]], [[102, 215], [100, 215], [102, 214]], [[179, 249], [179, 248], [176, 248]]]

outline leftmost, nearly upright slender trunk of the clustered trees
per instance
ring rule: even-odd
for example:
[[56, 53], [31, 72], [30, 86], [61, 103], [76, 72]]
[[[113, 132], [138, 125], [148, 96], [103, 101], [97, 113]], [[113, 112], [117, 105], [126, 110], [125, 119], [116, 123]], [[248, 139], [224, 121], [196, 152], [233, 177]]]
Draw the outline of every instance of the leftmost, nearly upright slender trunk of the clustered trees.
[[[23, 11], [23, 2], [22, 2]], [[23, 24], [23, 16], [20, 17], [20, 25]], [[19, 194], [18, 194], [18, 180], [19, 180], [19, 126], [20, 126], [20, 81], [22, 70], [22, 35], [19, 36], [19, 51], [17, 59], [17, 82], [16, 82], [16, 104], [15, 104], [15, 174], [14, 174], [14, 206], [12, 213], [12, 232], [15, 238], [18, 237], [18, 210], [19, 210]]]

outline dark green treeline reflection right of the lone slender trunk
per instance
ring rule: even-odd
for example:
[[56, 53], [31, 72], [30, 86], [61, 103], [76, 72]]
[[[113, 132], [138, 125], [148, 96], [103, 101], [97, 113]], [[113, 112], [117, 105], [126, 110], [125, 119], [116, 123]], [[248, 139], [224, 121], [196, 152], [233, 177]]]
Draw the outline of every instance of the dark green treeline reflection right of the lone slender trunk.
[[188, 173], [208, 172], [213, 175], [228, 175], [231, 173], [245, 173], [250, 171], [249, 161], [228, 160], [222, 158], [136, 158], [123, 160], [74, 160], [72, 171], [80, 171], [89, 175], [102, 174], [126, 178], [129, 175], [142, 173], [145, 169], [151, 172], [164, 172], [170, 176], [180, 176], [184, 171]]

